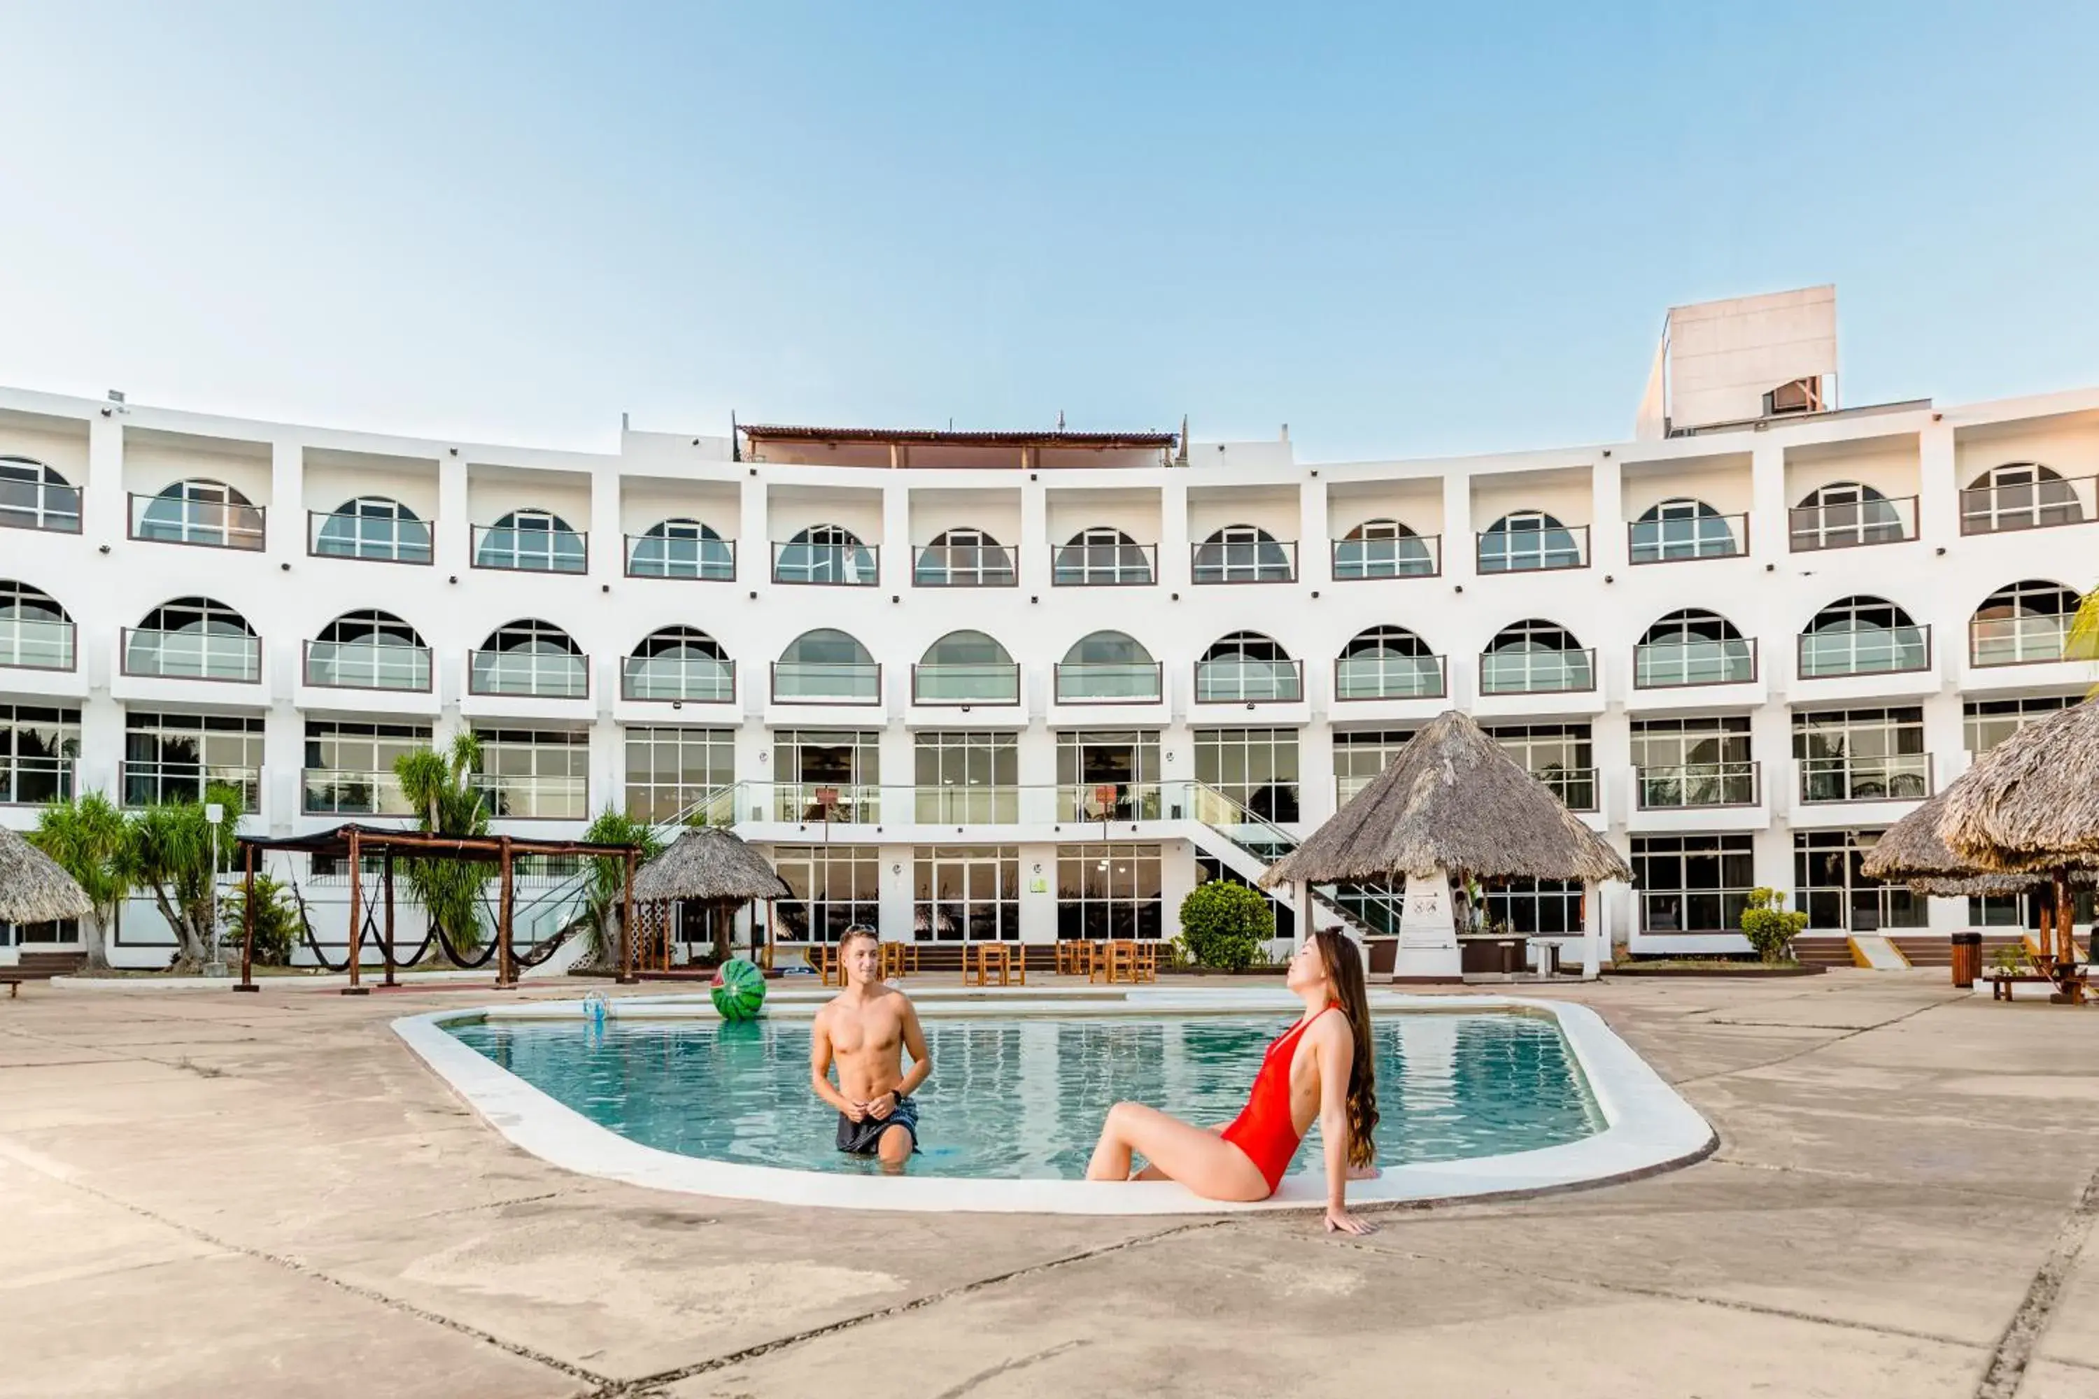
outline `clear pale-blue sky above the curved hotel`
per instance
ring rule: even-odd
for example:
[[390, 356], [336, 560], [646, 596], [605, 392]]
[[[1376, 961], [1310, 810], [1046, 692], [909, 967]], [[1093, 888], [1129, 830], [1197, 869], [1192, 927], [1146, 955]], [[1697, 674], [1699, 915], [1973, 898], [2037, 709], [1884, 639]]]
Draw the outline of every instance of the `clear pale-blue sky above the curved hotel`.
[[0, 382], [611, 447], [1616, 438], [1677, 302], [2099, 382], [2099, 6], [0, 0]]

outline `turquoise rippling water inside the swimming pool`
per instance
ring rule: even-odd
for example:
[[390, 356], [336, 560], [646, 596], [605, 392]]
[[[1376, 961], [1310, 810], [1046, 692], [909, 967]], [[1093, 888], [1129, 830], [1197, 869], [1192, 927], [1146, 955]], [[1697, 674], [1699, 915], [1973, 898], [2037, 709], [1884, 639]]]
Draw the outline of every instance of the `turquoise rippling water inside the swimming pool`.
[[[1230, 1122], [1291, 1015], [938, 1019], [917, 1091], [913, 1175], [1077, 1179], [1117, 1099]], [[791, 1170], [873, 1170], [833, 1149], [808, 1091], [808, 1021], [472, 1021], [449, 1026], [542, 1093], [663, 1152]], [[1604, 1128], [1560, 1028], [1513, 1013], [1383, 1015], [1377, 1160], [1530, 1152]], [[1297, 1156], [1316, 1168], [1318, 1124]]]

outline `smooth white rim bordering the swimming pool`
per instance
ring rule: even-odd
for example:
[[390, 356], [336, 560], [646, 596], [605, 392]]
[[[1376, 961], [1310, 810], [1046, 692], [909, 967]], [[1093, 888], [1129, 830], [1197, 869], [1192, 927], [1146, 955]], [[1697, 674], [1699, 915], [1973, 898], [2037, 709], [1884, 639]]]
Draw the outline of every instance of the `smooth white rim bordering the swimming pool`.
[[[1175, 1009], [1289, 1009], [1285, 1003], [1295, 1005], [1295, 998], [1253, 992], [1226, 1000], [1217, 992], [1203, 996], [1157, 992], [1150, 996], [1133, 994], [1121, 1009], [1087, 1007], [1085, 1013], [1159, 1015]], [[670, 1003], [615, 1003], [615, 1009], [619, 1005], [632, 1005], [634, 1017], [642, 1017], [642, 1013], [655, 1017], [665, 1011], [682, 1017], [686, 1013], [686, 1007]], [[1350, 1185], [1352, 1204], [1463, 1202], [1602, 1185], [1685, 1166], [1706, 1156], [1715, 1145], [1706, 1120], [1631, 1045], [1620, 1040], [1602, 1015], [1585, 1005], [1524, 996], [1377, 996], [1375, 1005], [1381, 1011], [1528, 1009], [1551, 1015], [1574, 1051], [1606, 1126], [1581, 1141], [1536, 1152], [1387, 1166], [1379, 1179]], [[527, 1009], [529, 1015], [521, 1013]], [[1066, 1007], [1064, 1013], [1077, 1009]], [[1014, 1015], [1016, 1007], [982, 1007], [978, 1013]], [[453, 1093], [514, 1145], [565, 1170], [649, 1189], [846, 1210], [1012, 1214], [1232, 1214], [1320, 1206], [1327, 1198], [1324, 1179], [1316, 1170], [1285, 1177], [1282, 1187], [1270, 1200], [1222, 1204], [1201, 1200], [1173, 1183], [1150, 1181], [829, 1175], [678, 1156], [598, 1126], [445, 1030], [449, 1021], [481, 1017], [575, 1019], [579, 1015], [581, 1003], [535, 1003], [531, 1007], [476, 1007], [407, 1015], [393, 1021], [393, 1028]]]

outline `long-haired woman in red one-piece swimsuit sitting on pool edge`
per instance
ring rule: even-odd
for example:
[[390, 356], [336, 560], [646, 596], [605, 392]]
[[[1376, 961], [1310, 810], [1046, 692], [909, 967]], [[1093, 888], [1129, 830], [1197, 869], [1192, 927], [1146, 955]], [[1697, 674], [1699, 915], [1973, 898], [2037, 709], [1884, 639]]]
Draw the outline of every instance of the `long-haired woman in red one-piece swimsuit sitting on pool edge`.
[[[1362, 954], [1345, 935], [1320, 929], [1297, 948], [1285, 986], [1303, 998], [1306, 1013], [1268, 1047], [1230, 1126], [1203, 1131], [1144, 1103], [1117, 1103], [1085, 1179], [1180, 1181], [1205, 1200], [1268, 1200], [1316, 1118], [1327, 1143], [1327, 1227], [1369, 1233], [1373, 1225], [1348, 1212], [1348, 1181], [1375, 1175], [1377, 1080]], [[1129, 1175], [1131, 1154], [1150, 1162], [1138, 1177]]]

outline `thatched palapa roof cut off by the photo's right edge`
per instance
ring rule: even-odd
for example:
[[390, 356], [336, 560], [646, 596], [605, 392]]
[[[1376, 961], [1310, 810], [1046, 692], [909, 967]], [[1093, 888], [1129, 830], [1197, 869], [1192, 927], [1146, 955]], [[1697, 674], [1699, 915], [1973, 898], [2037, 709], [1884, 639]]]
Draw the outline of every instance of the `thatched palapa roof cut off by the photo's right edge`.
[[2028, 724], [1946, 789], [1939, 839], [1979, 870], [2099, 866], [2099, 701]]

